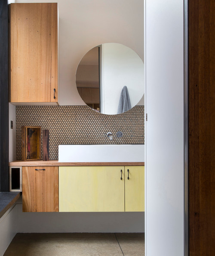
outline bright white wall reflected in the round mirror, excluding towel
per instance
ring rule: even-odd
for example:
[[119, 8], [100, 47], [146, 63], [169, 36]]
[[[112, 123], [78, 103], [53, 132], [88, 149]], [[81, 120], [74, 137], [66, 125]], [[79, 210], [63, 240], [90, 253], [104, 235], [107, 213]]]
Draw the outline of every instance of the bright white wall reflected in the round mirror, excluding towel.
[[101, 49], [101, 112], [115, 115], [124, 86], [128, 88], [132, 107], [141, 100], [144, 64], [137, 53], [122, 44], [103, 44]]

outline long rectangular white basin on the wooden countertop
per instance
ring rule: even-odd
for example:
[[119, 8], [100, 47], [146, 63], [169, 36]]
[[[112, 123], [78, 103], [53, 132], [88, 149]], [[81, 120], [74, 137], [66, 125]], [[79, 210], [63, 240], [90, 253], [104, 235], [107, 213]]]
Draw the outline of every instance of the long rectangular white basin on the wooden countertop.
[[58, 161], [144, 162], [144, 145], [59, 145]]

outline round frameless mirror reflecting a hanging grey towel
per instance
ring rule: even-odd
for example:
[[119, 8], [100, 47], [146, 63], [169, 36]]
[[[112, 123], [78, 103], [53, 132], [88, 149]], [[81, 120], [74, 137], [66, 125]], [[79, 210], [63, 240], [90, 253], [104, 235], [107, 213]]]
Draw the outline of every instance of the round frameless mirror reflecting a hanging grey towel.
[[79, 62], [76, 85], [80, 97], [95, 111], [120, 114], [144, 95], [144, 63], [123, 44], [101, 44]]

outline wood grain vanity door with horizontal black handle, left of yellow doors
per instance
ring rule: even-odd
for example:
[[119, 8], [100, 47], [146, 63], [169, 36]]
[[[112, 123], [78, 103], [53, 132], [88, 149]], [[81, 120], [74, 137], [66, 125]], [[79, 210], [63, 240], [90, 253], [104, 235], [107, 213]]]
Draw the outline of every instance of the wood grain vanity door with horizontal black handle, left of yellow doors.
[[58, 212], [58, 166], [22, 167], [22, 211]]

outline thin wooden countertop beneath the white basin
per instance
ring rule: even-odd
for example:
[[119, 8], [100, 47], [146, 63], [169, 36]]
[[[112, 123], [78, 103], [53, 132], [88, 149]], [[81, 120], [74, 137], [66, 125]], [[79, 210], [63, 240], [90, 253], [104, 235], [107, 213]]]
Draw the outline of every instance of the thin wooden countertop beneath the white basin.
[[144, 162], [58, 162], [58, 160], [50, 161], [13, 161], [9, 162], [9, 166], [143, 166]]

